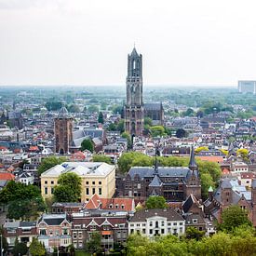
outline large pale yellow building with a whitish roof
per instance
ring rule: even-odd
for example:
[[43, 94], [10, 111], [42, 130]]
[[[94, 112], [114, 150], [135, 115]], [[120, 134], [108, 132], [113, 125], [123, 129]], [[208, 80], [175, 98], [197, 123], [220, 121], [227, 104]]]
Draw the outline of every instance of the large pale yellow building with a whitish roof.
[[102, 198], [111, 198], [115, 194], [115, 166], [98, 162], [64, 162], [49, 168], [41, 174], [41, 194], [50, 198], [54, 186], [62, 173], [73, 172], [82, 179], [81, 202], [98, 194]]

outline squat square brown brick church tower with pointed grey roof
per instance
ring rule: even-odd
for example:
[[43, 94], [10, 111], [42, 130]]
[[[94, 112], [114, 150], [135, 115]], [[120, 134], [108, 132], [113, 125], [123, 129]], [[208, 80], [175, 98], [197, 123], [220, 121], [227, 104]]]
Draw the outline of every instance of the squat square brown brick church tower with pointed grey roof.
[[65, 107], [54, 120], [55, 152], [61, 155], [69, 153], [73, 141], [73, 118]]

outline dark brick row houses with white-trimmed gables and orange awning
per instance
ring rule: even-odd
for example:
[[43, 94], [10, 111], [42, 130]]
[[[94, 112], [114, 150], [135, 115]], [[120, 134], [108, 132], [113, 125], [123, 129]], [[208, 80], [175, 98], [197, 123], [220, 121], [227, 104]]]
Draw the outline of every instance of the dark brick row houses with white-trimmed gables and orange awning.
[[113, 249], [114, 244], [122, 244], [128, 238], [126, 215], [109, 214], [105, 211], [74, 213], [72, 216], [72, 239], [75, 249], [83, 249], [93, 233], [101, 234], [101, 246]]

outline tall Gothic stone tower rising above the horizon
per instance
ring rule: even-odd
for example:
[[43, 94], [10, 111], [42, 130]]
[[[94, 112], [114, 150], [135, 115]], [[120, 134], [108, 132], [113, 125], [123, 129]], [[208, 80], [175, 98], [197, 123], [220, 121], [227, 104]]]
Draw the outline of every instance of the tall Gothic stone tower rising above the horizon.
[[142, 100], [142, 56], [133, 48], [128, 55], [125, 129], [131, 136], [142, 135], [144, 108]]

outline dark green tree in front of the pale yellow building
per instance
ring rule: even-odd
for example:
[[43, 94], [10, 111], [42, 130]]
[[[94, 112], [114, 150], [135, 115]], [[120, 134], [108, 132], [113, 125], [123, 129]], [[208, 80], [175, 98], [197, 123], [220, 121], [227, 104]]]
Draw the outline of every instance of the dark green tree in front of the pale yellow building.
[[63, 173], [54, 188], [56, 202], [78, 202], [81, 197], [81, 178], [73, 172]]

